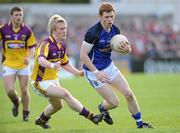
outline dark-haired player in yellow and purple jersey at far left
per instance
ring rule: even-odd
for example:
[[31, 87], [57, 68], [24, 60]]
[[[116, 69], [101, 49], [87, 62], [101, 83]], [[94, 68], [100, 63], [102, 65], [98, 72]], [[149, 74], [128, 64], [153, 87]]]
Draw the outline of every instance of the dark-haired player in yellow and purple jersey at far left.
[[[23, 9], [13, 7], [11, 20], [0, 26], [2, 41], [3, 80], [6, 93], [13, 103], [13, 116], [18, 116], [18, 108], [22, 102], [23, 120], [28, 121], [30, 94], [28, 90], [29, 60], [33, 58], [36, 41], [32, 30], [23, 21]], [[21, 98], [15, 90], [16, 78], [19, 79]]]

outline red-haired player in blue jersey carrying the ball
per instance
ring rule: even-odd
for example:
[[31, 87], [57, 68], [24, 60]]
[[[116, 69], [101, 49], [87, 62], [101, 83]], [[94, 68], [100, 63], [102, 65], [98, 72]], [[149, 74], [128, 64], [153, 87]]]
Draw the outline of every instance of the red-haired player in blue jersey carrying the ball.
[[[114, 87], [125, 97], [137, 128], [152, 128], [150, 124], [142, 121], [136, 97], [127, 80], [110, 58], [112, 51], [110, 40], [114, 35], [120, 34], [118, 27], [113, 24], [114, 6], [111, 3], [102, 3], [99, 7], [99, 16], [100, 22], [86, 32], [80, 52], [87, 80], [104, 99], [98, 109], [104, 114], [104, 121], [113, 124], [108, 110], [116, 108], [119, 104], [119, 99], [111, 88]], [[124, 45], [122, 51], [130, 52], [130, 45]]]

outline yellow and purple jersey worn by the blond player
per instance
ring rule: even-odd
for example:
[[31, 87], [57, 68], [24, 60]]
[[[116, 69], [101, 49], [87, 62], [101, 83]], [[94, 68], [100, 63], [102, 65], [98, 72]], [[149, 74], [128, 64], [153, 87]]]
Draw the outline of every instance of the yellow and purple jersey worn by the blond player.
[[49, 36], [47, 39], [41, 42], [36, 49], [34, 68], [31, 78], [35, 82], [44, 80], [55, 80], [58, 78], [58, 70], [45, 68], [38, 64], [38, 58], [44, 57], [51, 63], [59, 62], [61, 65], [69, 63], [69, 59], [66, 55], [66, 47], [63, 42], [58, 43]]

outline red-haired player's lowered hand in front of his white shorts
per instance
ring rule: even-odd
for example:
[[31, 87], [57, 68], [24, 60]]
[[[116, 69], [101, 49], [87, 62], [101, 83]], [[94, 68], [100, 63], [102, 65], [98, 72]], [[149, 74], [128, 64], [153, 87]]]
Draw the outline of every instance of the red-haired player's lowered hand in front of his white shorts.
[[96, 74], [97, 79], [102, 83], [110, 83], [111, 80], [108, 78], [108, 75], [103, 71], [98, 71]]

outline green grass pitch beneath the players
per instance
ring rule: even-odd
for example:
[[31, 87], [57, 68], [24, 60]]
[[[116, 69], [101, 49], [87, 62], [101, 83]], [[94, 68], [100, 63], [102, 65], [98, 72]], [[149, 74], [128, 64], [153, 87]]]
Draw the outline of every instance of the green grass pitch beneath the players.
[[[52, 116], [51, 129], [44, 130], [35, 126], [34, 120], [48, 104], [47, 100], [37, 96], [30, 88], [30, 121], [22, 121], [22, 105], [19, 116], [14, 118], [11, 115], [12, 105], [5, 95], [1, 79], [0, 133], [180, 133], [180, 75], [127, 74], [125, 77], [137, 97], [143, 120], [151, 123], [155, 129], [136, 129], [125, 99], [118, 93], [120, 104], [110, 111], [113, 125], [105, 122], [94, 125], [72, 111], [65, 103], [64, 108]], [[86, 107], [98, 113], [97, 105], [102, 99], [84, 78], [63, 79], [60, 83]]]

